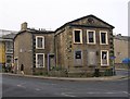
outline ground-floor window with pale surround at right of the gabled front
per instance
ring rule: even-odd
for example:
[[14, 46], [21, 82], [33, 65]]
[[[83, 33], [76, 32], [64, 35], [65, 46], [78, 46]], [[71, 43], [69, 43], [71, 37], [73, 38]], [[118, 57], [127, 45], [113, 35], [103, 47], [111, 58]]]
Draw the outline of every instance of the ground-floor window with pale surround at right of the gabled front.
[[101, 51], [101, 65], [108, 65], [108, 51], [107, 50]]

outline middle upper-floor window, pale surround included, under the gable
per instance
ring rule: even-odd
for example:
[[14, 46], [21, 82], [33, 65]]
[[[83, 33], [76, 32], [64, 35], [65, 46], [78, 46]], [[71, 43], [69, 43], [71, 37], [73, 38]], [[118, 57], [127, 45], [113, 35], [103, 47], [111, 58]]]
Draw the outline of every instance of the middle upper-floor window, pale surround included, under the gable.
[[95, 44], [95, 30], [87, 30], [87, 42]]

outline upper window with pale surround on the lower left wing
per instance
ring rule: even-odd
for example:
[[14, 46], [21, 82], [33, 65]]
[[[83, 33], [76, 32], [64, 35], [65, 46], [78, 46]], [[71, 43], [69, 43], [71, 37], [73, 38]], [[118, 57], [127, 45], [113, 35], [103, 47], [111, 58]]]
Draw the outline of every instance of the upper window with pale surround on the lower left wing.
[[37, 49], [44, 49], [44, 37], [43, 36], [36, 37], [36, 48]]

